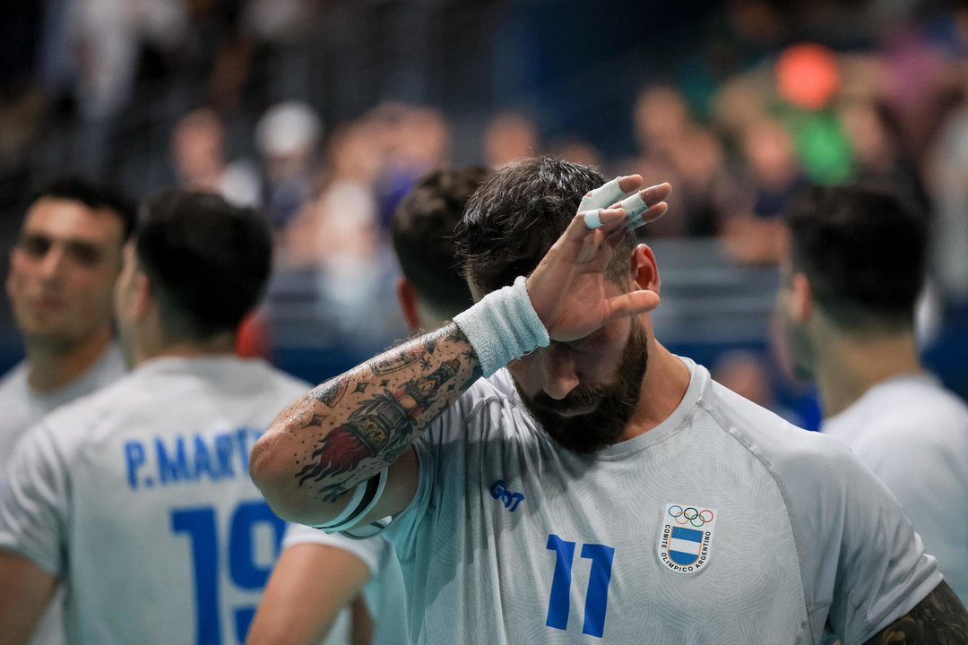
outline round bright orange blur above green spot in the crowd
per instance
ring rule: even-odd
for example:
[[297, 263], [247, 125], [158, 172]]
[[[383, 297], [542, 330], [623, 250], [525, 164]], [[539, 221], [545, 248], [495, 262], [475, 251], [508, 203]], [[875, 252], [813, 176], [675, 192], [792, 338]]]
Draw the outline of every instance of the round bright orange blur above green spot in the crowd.
[[790, 103], [820, 109], [840, 88], [836, 56], [820, 44], [787, 47], [776, 60], [776, 87]]

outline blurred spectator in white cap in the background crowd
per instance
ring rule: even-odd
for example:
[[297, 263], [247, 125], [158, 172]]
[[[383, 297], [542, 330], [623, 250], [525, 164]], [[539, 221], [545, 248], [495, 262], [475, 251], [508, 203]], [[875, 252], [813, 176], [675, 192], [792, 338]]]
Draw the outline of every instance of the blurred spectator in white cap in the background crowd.
[[262, 212], [281, 231], [313, 193], [322, 122], [300, 102], [278, 103], [258, 120], [256, 144], [262, 157]]

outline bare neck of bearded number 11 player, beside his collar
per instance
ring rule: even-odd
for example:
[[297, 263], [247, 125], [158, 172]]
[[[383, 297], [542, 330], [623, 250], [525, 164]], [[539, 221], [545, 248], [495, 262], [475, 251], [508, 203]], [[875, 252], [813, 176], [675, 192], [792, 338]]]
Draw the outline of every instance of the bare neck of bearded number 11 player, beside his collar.
[[620, 441], [639, 436], [669, 418], [689, 388], [689, 368], [654, 339], [649, 343], [649, 366], [642, 379], [639, 404], [625, 425]]

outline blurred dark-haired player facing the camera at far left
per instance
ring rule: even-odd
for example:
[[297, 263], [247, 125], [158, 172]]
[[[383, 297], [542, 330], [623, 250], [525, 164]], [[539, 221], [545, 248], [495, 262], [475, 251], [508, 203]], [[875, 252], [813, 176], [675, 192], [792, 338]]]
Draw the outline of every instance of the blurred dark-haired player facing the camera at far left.
[[30, 200], [7, 277], [26, 358], [0, 380], [0, 459], [45, 413], [124, 373], [111, 293], [135, 220], [133, 202], [77, 178]]

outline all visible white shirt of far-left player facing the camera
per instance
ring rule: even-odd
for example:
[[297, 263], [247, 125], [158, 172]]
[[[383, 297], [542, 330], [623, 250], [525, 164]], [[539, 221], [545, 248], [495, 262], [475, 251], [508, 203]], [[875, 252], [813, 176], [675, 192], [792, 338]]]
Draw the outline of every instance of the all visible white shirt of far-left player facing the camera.
[[[121, 378], [126, 371], [124, 357], [111, 343], [94, 365], [74, 381], [52, 392], [38, 393], [27, 382], [28, 367], [21, 361], [0, 379], [0, 489], [6, 478], [6, 461], [16, 440], [45, 414], [59, 405], [89, 395]], [[34, 631], [30, 645], [61, 645], [64, 635], [64, 590], [60, 587]]]

